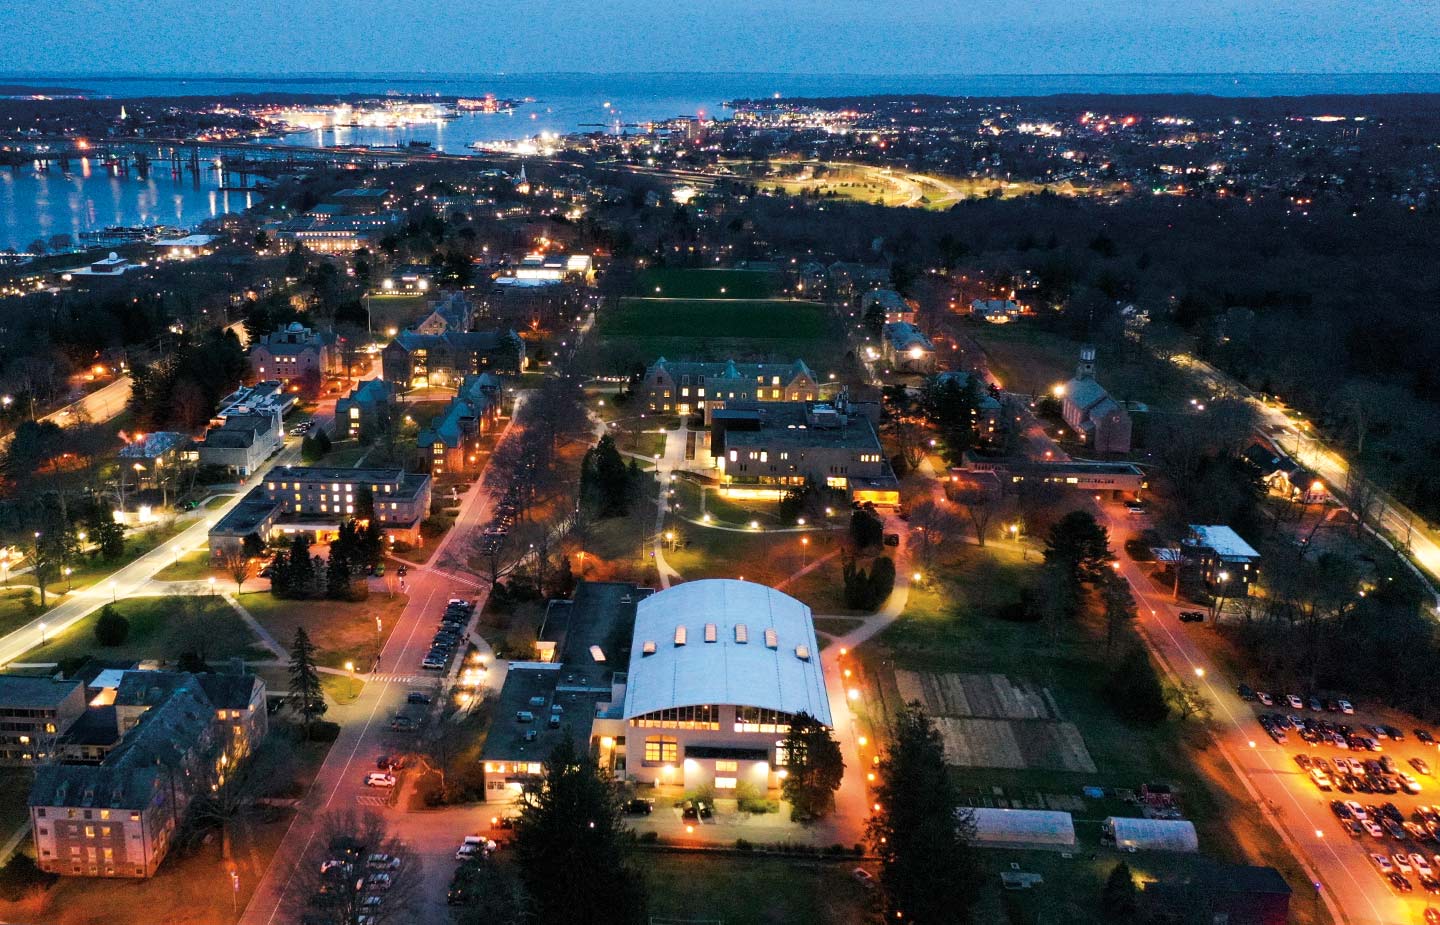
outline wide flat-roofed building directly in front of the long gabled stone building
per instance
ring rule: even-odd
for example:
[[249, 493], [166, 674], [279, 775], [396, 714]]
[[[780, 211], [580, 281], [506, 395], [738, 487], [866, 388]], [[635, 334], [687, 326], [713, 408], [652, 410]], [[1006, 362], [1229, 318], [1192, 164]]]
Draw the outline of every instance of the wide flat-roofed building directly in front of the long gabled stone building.
[[832, 402], [736, 402], [713, 412], [710, 454], [720, 491], [779, 499], [811, 480], [854, 501], [899, 504], [900, 483], [868, 414]]

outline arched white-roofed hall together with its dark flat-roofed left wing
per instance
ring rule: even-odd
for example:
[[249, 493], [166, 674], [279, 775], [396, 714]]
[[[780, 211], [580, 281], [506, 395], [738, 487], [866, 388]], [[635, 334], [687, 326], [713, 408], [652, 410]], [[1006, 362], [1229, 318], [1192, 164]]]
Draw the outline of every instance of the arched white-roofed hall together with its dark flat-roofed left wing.
[[485, 798], [516, 798], [562, 739], [639, 785], [766, 792], [801, 713], [832, 722], [805, 604], [733, 579], [582, 582], [550, 602], [536, 658], [510, 664], [481, 754]]

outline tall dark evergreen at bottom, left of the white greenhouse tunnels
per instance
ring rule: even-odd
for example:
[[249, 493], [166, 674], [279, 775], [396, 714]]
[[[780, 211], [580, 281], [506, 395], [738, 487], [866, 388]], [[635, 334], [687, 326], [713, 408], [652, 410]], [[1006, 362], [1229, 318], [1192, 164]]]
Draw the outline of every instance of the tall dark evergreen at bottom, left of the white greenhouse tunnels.
[[[877, 765], [878, 810], [867, 823], [880, 856], [890, 921], [959, 925], [971, 921], [979, 870], [969, 849], [975, 823], [962, 811], [945, 765], [945, 745], [924, 709], [900, 707]], [[936, 889], [945, 883], [945, 889]]]

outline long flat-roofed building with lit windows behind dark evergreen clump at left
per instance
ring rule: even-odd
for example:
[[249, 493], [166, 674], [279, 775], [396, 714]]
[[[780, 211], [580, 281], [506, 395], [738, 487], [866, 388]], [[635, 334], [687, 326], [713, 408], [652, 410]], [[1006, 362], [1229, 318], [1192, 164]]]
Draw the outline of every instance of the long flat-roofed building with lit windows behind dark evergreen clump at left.
[[305, 533], [330, 542], [356, 517], [356, 496], [369, 488], [374, 516], [390, 543], [423, 545], [420, 522], [431, 513], [431, 477], [400, 468], [279, 465], [210, 527], [210, 556], [239, 549], [249, 535], [261, 539]]

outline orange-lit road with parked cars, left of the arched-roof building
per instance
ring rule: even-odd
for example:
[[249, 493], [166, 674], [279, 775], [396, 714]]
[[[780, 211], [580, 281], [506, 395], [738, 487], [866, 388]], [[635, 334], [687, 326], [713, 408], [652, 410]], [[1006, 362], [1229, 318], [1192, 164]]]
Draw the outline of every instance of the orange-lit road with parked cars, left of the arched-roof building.
[[[455, 847], [462, 836], [488, 827], [492, 808], [481, 804], [409, 813], [399, 800], [396, 805], [389, 805], [384, 794], [364, 787], [364, 777], [374, 771], [380, 755], [418, 748], [416, 733], [399, 733], [389, 728], [390, 718], [405, 707], [408, 692], [432, 690], [438, 694], [432, 709], [441, 706], [439, 700], [446, 693], [442, 689], [444, 679], [438, 671], [422, 670], [420, 661], [431, 648], [431, 635], [449, 598], [475, 599], [477, 612], [484, 608], [488, 589], [467, 573], [465, 550], [474, 532], [488, 520], [491, 501], [484, 480], [477, 480], [465, 493], [451, 532], [431, 552], [423, 566], [410, 568], [409, 602], [390, 630], [377, 673], [354, 703], [331, 707], [328, 719], [340, 723], [340, 735], [240, 916], [243, 925], [298, 921], [295, 911], [304, 902], [307, 880], [297, 876], [297, 870], [318, 864], [325, 849], [317, 843], [315, 823], [327, 811], [347, 808], [382, 813], [389, 833], [403, 840], [420, 860], [422, 883], [416, 890], [415, 905], [403, 921], [448, 921], [445, 888], [455, 869]], [[433, 723], [435, 718], [431, 716], [428, 722]], [[402, 787], [408, 781], [402, 779]]]

